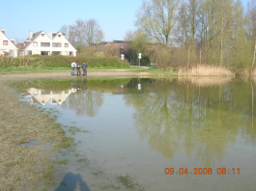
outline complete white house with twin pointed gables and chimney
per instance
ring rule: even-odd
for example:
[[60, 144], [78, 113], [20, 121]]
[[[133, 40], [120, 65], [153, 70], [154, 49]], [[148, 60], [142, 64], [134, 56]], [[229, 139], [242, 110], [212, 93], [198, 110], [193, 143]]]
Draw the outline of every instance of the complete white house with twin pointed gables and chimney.
[[34, 33], [29, 31], [29, 38], [18, 44], [20, 55], [66, 55], [76, 56], [76, 49], [61, 32], [48, 33], [40, 31]]

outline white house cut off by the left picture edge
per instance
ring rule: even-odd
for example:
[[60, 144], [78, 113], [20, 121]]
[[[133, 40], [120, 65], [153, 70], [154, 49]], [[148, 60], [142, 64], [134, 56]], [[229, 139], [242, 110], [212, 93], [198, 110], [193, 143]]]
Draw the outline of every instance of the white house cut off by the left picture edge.
[[0, 29], [0, 55], [10, 57], [17, 56], [17, 47], [14, 45], [14, 40], [9, 40], [5, 35], [5, 29]]

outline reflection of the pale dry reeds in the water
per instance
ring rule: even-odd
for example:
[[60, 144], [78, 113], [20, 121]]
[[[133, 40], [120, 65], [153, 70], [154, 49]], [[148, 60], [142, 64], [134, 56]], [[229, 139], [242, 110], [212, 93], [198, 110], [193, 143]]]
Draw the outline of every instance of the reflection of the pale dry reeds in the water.
[[194, 76], [194, 77], [178, 77], [178, 81], [182, 83], [190, 82], [195, 86], [200, 87], [209, 87], [209, 86], [218, 86], [229, 82], [232, 77], [223, 77], [223, 76]]

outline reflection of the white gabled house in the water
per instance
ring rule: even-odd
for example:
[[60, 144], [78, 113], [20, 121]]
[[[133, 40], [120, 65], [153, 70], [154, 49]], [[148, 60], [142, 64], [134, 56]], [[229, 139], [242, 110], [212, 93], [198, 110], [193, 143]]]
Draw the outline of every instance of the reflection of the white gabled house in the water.
[[45, 105], [50, 103], [52, 105], [59, 104], [61, 105], [67, 97], [71, 95], [71, 90], [66, 91], [45, 91], [41, 89], [30, 88], [27, 90], [27, 96], [30, 99], [30, 103], [34, 102]]

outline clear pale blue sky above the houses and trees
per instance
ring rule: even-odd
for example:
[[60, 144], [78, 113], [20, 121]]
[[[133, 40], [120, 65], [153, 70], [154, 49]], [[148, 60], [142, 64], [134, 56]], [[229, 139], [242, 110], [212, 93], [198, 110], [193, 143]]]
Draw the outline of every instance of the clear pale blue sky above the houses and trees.
[[[242, 0], [246, 5], [248, 0]], [[75, 20], [95, 18], [105, 34], [105, 41], [124, 40], [134, 30], [136, 11], [142, 0], [3, 0], [0, 28], [9, 39], [28, 38], [29, 31], [57, 32]]]

